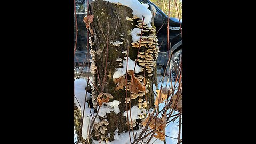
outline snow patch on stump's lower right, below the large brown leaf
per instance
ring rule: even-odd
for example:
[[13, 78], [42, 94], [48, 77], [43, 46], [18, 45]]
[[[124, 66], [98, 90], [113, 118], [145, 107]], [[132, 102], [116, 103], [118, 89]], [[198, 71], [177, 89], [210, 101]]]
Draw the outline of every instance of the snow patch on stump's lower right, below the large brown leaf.
[[[138, 115], [147, 114], [147, 110], [144, 108], [139, 109], [138, 105], [134, 105], [131, 109], [128, 110], [129, 121], [131, 121], [130, 113], [132, 115], [132, 121], [134, 121], [135, 119], [141, 119]], [[124, 111], [123, 116], [127, 117], [127, 111]]]

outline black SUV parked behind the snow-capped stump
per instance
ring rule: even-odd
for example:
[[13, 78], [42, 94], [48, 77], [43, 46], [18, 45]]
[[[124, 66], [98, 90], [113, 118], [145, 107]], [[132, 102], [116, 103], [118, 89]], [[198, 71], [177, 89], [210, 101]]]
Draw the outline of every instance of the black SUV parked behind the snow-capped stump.
[[[77, 17], [77, 46], [74, 57], [75, 66], [81, 65], [81, 63], [87, 63], [87, 29], [83, 23], [83, 17], [87, 15], [87, 1], [92, 2], [92, 0], [76, 0], [76, 17]], [[159, 57], [157, 59], [157, 68], [163, 69], [167, 66], [168, 61], [168, 48], [167, 48], [167, 15], [162, 12], [154, 3], [149, 0], [138, 0], [142, 4], [148, 4], [149, 10], [153, 12], [154, 25], [156, 26], [157, 38], [159, 43]], [[181, 24], [180, 24], [181, 23]], [[170, 54], [172, 53], [172, 58], [170, 61], [172, 79], [175, 79], [176, 73], [175, 68], [180, 63], [182, 55], [182, 38], [181, 38], [181, 28], [182, 21], [177, 18], [169, 18], [169, 42], [171, 43]], [[74, 13], [74, 43], [76, 41], [76, 23], [75, 23], [75, 13]], [[167, 68], [167, 73], [169, 73], [169, 68]]]

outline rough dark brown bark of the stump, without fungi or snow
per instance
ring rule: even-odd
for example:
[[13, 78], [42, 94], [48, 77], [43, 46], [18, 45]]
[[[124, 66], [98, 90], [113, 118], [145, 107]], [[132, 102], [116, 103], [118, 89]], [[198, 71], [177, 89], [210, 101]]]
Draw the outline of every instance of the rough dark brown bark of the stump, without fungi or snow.
[[[100, 120], [107, 119], [109, 124], [106, 126], [108, 130], [106, 130], [105, 135], [110, 133], [110, 138], [108, 138], [108, 141], [114, 140], [114, 132], [118, 128], [118, 133], [124, 132], [128, 130], [126, 123], [126, 117], [122, 116], [123, 113], [126, 111], [126, 105], [125, 105], [125, 88], [122, 90], [115, 90], [116, 84], [114, 83], [113, 74], [115, 72], [116, 68], [122, 68], [123, 66], [119, 66], [120, 61], [116, 61], [116, 59], [119, 57], [121, 59], [124, 58], [123, 51], [127, 50], [127, 47], [129, 47], [129, 57], [135, 61], [137, 58], [137, 52], [138, 49], [132, 47], [132, 37], [130, 35], [131, 30], [135, 28], [135, 25], [137, 25], [137, 20], [128, 21], [125, 20], [126, 17], [133, 18], [132, 15], [132, 9], [130, 9], [127, 6], [123, 5], [116, 5], [107, 1], [103, 0], [97, 0], [90, 4], [90, 12], [91, 15], [94, 15], [93, 23], [91, 25], [91, 29], [93, 29], [93, 35], [91, 35], [92, 42], [94, 44], [92, 45], [91, 49], [95, 52], [95, 65], [97, 66], [98, 74], [94, 74], [94, 85], [97, 87], [97, 89], [100, 92], [104, 93], [110, 93], [113, 95], [113, 99], [110, 99], [110, 101], [117, 100], [121, 103], [119, 104], [120, 113], [115, 114], [113, 111], [111, 113], [107, 113], [107, 117], [99, 117]], [[153, 26], [154, 27], [154, 26]], [[124, 35], [124, 37], [121, 37], [120, 35]], [[105, 39], [106, 38], [106, 39]], [[124, 38], [124, 40], [121, 40], [121, 38]], [[110, 44], [110, 41], [116, 42], [121, 41], [123, 44], [120, 46], [113, 46]], [[107, 52], [108, 47], [108, 52]], [[141, 47], [140, 51], [145, 51], [145, 47]], [[108, 54], [107, 54], [108, 53]], [[102, 82], [105, 75], [105, 65], [106, 65], [106, 59], [107, 59], [107, 78], [105, 81], [104, 89], [101, 89]], [[138, 62], [137, 62], [138, 63]], [[126, 67], [126, 66], [124, 66]], [[137, 75], [137, 74], [135, 74]], [[140, 75], [143, 75], [143, 72], [140, 73]], [[149, 92], [147, 95], [147, 100], [149, 101], [149, 105], [147, 109], [154, 107], [154, 95], [153, 95], [153, 83], [156, 84], [156, 67], [154, 67], [153, 70], [153, 76], [147, 77], [146, 72], [146, 81], [148, 80], [148, 90]], [[130, 76], [129, 78], [130, 79]], [[99, 82], [101, 86], [99, 85]], [[143, 81], [142, 81], [143, 82]], [[146, 85], [146, 84], [145, 84]], [[97, 97], [99, 95], [99, 92], [94, 90], [94, 95]], [[130, 97], [131, 93], [127, 93], [127, 97]], [[138, 97], [137, 99], [131, 100], [131, 107], [134, 105], [138, 105]], [[143, 99], [146, 99], [145, 96], [142, 97]], [[97, 101], [94, 97], [94, 102]], [[129, 103], [129, 105], [130, 105]], [[98, 105], [98, 104], [97, 104]], [[103, 104], [104, 105], [104, 104]], [[129, 109], [129, 106], [128, 106]], [[138, 126], [137, 126], [138, 127]], [[134, 129], [136, 129], [134, 127]], [[99, 136], [101, 136], [100, 134]], [[97, 137], [95, 137], [95, 130], [92, 132], [93, 139], [97, 140]], [[101, 137], [99, 137], [101, 139]], [[105, 140], [106, 139], [102, 139]]]

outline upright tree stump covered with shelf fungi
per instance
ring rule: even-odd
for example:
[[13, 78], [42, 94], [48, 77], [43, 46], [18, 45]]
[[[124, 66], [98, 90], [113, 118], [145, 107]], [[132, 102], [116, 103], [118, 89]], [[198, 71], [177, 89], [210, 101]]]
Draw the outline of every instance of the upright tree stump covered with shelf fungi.
[[[105, 116], [97, 116], [91, 136], [94, 140], [113, 141], [116, 132], [127, 132], [140, 127], [143, 116], [136, 120], [136, 125], [134, 124], [135, 119], [132, 119], [133, 126], [126, 124], [127, 120], [123, 114], [127, 109], [129, 110], [133, 106], [147, 110], [154, 108], [153, 85], [157, 85], [156, 59], [159, 51], [156, 31], [153, 23], [151, 23], [152, 28], [143, 25], [142, 36], [144, 38], [141, 39], [141, 43], [138, 41], [135, 43], [132, 41], [131, 31], [134, 28], [141, 28], [143, 20], [133, 17], [130, 7], [96, 0], [90, 4], [90, 13], [87, 17], [87, 28], [90, 30], [89, 43], [92, 55], [90, 70], [93, 74], [92, 100], [94, 108], [101, 107], [98, 111], [100, 113], [101, 110], [108, 107], [108, 103], [120, 102], [119, 113], [110, 110]], [[140, 49], [137, 48], [139, 46]], [[118, 78], [113, 78], [113, 75], [118, 68], [126, 68], [123, 61], [126, 61], [127, 54], [131, 60], [136, 61], [138, 50], [140, 57], [138, 57], [137, 65], [142, 69], [139, 73], [134, 73], [133, 69], [128, 71], [127, 86], [125, 86], [126, 73]], [[122, 87], [122, 85], [124, 86]], [[127, 99], [130, 100], [127, 105], [126, 87], [129, 89]], [[113, 98], [109, 99], [102, 93], [111, 94]], [[99, 94], [103, 96], [99, 98]], [[100, 104], [102, 101], [105, 103]]]

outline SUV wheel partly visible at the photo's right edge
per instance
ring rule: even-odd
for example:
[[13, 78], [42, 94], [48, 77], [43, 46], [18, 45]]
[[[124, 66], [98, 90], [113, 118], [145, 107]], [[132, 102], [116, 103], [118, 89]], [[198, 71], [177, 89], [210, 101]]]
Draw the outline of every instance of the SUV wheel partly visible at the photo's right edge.
[[179, 72], [180, 70], [180, 65], [181, 65], [181, 58], [182, 58], [182, 49], [176, 51], [173, 53], [171, 59], [170, 59], [170, 68], [166, 67], [166, 75], [170, 76], [170, 69], [171, 69], [171, 79], [173, 82], [176, 81], [177, 77], [179, 81], [180, 78], [180, 74], [181, 72]]

